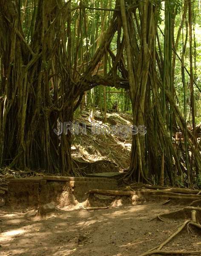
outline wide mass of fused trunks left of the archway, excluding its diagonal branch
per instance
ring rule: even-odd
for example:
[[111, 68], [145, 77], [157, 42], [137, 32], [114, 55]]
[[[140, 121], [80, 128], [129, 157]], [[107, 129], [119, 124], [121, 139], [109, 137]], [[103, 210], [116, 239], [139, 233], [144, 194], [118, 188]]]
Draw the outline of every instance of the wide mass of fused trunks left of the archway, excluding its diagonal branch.
[[73, 174], [71, 135], [57, 137], [53, 131], [58, 120], [72, 121], [75, 100], [68, 76], [60, 81], [61, 93], [56, 88], [57, 78], [52, 79], [54, 98], [50, 95], [49, 74], [56, 68], [58, 73], [63, 71], [55, 64], [57, 55], [63, 49], [60, 40], [54, 52], [52, 48], [55, 38], [60, 36], [62, 39], [63, 36], [61, 33], [56, 36], [57, 32], [51, 25], [59, 9], [54, 0], [48, 4], [39, 1], [35, 31], [29, 45], [14, 3], [8, 0], [0, 4], [0, 12], [1, 35], [7, 35], [6, 44], [1, 45], [4, 71], [2, 93], [5, 95], [0, 119], [3, 135], [1, 163], [19, 169], [46, 169], [62, 172], [63, 175]]

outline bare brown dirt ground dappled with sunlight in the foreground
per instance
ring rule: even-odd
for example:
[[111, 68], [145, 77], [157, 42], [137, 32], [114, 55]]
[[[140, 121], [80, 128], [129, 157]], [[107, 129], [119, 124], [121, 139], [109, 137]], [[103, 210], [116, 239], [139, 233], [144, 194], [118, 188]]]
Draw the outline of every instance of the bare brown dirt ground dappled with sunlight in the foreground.
[[[161, 202], [86, 211], [58, 209], [49, 218], [31, 210], [0, 210], [0, 255], [138, 256], [167, 239], [182, 219], [148, 221], [181, 205]], [[201, 232], [183, 231], [164, 250], [201, 250]]]

